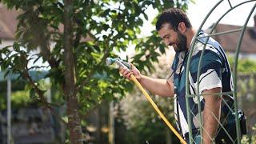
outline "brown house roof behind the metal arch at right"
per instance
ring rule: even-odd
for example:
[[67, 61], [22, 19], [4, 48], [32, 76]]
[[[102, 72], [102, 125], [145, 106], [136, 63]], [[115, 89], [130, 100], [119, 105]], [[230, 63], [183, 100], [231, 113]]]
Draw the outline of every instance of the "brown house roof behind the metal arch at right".
[[[229, 30], [241, 29], [242, 26], [218, 24], [215, 28], [214, 33], [225, 32]], [[210, 28], [208, 29], [210, 30]], [[238, 38], [240, 32], [222, 34], [214, 36], [213, 38], [217, 40], [223, 47], [225, 51], [235, 52], [238, 45]], [[242, 45], [240, 47], [240, 52], [244, 54], [256, 54], [256, 27], [246, 27], [245, 34], [242, 39]]]

